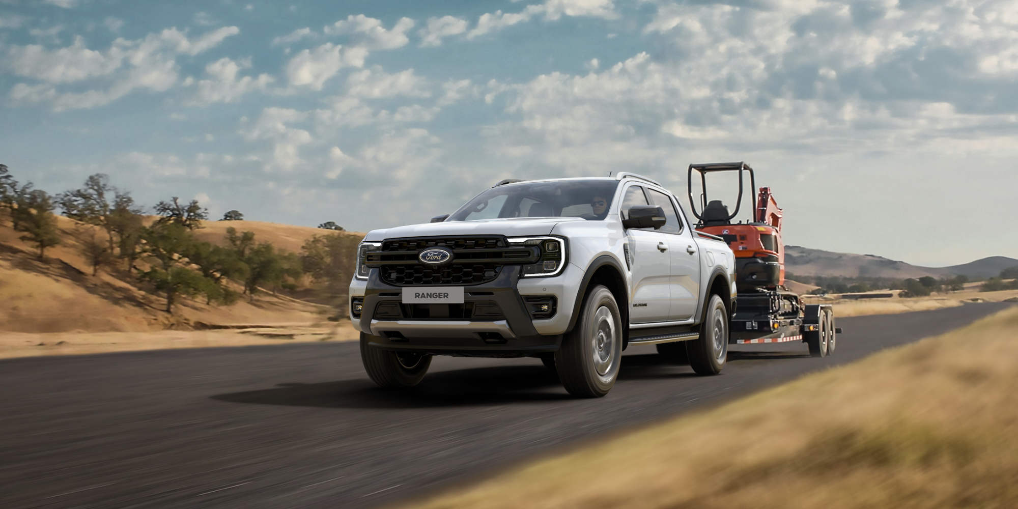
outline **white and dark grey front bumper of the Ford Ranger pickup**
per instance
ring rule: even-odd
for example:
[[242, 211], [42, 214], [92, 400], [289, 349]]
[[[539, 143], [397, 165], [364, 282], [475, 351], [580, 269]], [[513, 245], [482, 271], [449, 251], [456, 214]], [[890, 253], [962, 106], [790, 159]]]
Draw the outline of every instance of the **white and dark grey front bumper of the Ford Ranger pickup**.
[[[516, 356], [558, 350], [562, 334], [580, 290], [582, 270], [567, 264], [557, 276], [521, 278], [519, 266], [505, 266], [491, 283], [464, 287], [465, 302], [495, 302], [499, 320], [405, 320], [376, 317], [383, 302], [400, 302], [403, 287], [381, 280], [372, 270], [367, 280], [354, 279], [350, 298], [363, 298], [359, 319], [352, 315], [353, 327], [371, 336], [371, 344], [392, 350], [414, 350], [436, 354]], [[554, 317], [533, 320], [524, 304], [526, 296], [554, 296]]]

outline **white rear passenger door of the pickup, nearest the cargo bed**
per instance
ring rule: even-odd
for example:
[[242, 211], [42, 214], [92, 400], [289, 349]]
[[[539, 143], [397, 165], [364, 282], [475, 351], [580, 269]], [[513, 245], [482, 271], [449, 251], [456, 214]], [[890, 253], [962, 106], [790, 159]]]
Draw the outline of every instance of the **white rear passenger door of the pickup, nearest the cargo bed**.
[[660, 190], [646, 188], [651, 205], [661, 207], [665, 211], [667, 222], [658, 231], [667, 236], [671, 247], [669, 262], [671, 278], [669, 279], [669, 320], [687, 320], [696, 313], [699, 298], [700, 265], [696, 242], [693, 242], [690, 231], [682, 222], [675, 202]]

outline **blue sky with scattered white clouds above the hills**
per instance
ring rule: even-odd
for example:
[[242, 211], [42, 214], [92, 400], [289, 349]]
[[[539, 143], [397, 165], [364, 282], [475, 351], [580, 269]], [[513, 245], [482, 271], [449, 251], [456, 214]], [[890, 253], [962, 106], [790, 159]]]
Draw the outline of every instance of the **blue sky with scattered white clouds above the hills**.
[[214, 219], [367, 231], [613, 171], [683, 199], [745, 161], [786, 243], [1018, 258], [1018, 0], [0, 0], [0, 119], [22, 182]]

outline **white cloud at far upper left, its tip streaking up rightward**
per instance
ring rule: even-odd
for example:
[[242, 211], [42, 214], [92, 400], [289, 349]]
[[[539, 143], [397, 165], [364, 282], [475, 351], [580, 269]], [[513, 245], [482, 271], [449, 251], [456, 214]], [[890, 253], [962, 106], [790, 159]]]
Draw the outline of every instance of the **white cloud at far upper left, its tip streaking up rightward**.
[[[176, 55], [203, 53], [238, 33], [236, 26], [224, 26], [189, 39], [176, 29], [167, 29], [140, 40], [117, 39], [105, 51], [87, 48], [79, 36], [70, 46], [55, 50], [10, 46], [5, 66], [15, 75], [48, 84], [18, 83], [9, 97], [18, 103], [49, 101], [54, 110], [62, 111], [103, 106], [137, 89], [164, 92], [177, 81]], [[55, 87], [97, 78], [109, 84], [83, 92], [60, 92]]]

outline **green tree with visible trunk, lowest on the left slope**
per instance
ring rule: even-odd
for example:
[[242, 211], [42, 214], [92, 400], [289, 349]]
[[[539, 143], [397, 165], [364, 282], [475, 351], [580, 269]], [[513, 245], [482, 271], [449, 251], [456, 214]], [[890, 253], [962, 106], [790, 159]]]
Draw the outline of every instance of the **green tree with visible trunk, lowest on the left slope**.
[[194, 295], [209, 287], [209, 280], [190, 268], [181, 253], [187, 252], [194, 237], [185, 226], [175, 222], [156, 223], [142, 231], [143, 252], [151, 268], [142, 279], [166, 294], [166, 313], [173, 314], [178, 295]]

